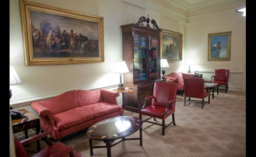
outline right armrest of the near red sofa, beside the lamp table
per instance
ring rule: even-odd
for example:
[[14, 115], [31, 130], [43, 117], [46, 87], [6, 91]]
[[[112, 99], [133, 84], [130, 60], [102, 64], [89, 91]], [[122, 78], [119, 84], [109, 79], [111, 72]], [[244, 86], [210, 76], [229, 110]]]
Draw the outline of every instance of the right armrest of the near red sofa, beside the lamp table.
[[116, 98], [119, 97], [119, 92], [111, 91], [109, 89], [99, 89], [102, 94], [104, 102], [118, 105]]

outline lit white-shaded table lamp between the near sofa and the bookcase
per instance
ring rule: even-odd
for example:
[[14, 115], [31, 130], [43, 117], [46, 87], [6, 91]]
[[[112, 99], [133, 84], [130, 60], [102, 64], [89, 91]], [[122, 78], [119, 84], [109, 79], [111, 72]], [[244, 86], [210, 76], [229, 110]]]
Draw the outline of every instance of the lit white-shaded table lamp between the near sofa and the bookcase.
[[120, 83], [118, 84], [118, 88], [119, 90], [125, 89], [123, 81], [122, 81], [122, 75], [123, 73], [128, 73], [129, 69], [127, 68], [127, 65], [125, 63], [125, 61], [117, 61], [116, 65], [114, 67], [113, 73], [120, 73]]

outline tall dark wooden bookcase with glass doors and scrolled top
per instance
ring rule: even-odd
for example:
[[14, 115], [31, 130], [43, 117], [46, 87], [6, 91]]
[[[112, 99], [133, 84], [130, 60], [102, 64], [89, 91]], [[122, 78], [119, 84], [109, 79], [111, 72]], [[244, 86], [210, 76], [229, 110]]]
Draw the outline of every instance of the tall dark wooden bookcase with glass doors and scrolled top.
[[[120, 26], [123, 60], [129, 69], [129, 73], [124, 73], [124, 87], [134, 91], [124, 95], [126, 101], [123, 105], [125, 110], [135, 113], [143, 107], [145, 97], [153, 95], [154, 83], [163, 81], [159, 44], [162, 30], [156, 23], [153, 27], [149, 24], [144, 26], [143, 20], [145, 22], [145, 17], [141, 17], [138, 23]], [[148, 18], [147, 22], [149, 21]]]

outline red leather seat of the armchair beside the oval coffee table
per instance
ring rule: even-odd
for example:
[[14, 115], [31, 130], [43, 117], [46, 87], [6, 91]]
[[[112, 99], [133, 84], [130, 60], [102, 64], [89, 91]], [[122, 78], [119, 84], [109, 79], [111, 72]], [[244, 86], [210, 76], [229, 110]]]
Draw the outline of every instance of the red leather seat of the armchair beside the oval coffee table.
[[143, 110], [139, 111], [139, 114], [149, 116], [149, 117], [155, 117], [159, 118], [161, 120], [165, 120], [168, 116], [170, 116], [174, 110], [169, 108], [167, 115], [163, 116], [162, 114], [166, 110], [166, 107], [160, 107], [160, 106], [148, 106], [144, 108]]

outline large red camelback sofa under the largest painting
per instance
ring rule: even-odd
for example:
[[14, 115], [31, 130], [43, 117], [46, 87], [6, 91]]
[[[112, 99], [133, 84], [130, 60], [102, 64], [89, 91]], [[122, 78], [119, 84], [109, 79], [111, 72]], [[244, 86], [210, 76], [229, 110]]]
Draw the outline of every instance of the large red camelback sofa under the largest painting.
[[107, 118], [121, 116], [118, 96], [109, 89], [74, 90], [33, 102], [31, 108], [39, 115], [41, 130], [59, 140]]

